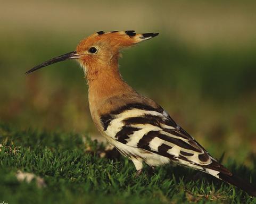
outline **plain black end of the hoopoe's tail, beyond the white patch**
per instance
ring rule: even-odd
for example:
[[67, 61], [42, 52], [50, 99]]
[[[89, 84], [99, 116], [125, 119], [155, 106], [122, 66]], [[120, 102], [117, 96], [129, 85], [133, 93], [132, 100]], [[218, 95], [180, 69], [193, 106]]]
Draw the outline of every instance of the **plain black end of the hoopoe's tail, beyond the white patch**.
[[237, 186], [243, 191], [247, 192], [250, 196], [256, 197], [256, 188], [254, 188], [249, 182], [244, 181], [240, 177], [234, 175], [227, 175], [224, 173], [219, 173], [219, 178], [223, 181], [226, 181], [232, 185]]

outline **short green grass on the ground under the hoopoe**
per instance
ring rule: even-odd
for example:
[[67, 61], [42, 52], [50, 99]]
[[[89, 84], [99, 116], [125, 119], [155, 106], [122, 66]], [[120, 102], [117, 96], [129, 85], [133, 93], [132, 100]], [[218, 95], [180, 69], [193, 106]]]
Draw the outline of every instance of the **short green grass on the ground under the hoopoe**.
[[[256, 199], [204, 174], [171, 165], [148, 167], [135, 177], [123, 158], [101, 158], [104, 146], [76, 133], [19, 130], [0, 123], [0, 200], [8, 203], [256, 203]], [[109, 156], [111, 156], [109, 154]], [[234, 160], [225, 164], [244, 179], [256, 182], [253, 170]], [[46, 182], [19, 182], [18, 170]], [[198, 177], [198, 175], [197, 175]]]

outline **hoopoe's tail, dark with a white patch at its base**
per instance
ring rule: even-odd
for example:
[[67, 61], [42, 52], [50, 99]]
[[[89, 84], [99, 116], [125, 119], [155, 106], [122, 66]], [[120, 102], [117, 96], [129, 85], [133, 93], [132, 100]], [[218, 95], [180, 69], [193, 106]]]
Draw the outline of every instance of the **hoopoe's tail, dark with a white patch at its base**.
[[212, 163], [208, 166], [209, 168], [205, 168], [207, 173], [211, 174], [211, 171], [219, 172], [217, 174], [211, 174], [218, 179], [230, 183], [243, 191], [247, 192], [250, 196], [256, 197], [256, 188], [252, 186], [251, 183], [241, 179], [238, 176], [233, 175], [226, 167], [222, 166], [216, 160], [212, 160]]

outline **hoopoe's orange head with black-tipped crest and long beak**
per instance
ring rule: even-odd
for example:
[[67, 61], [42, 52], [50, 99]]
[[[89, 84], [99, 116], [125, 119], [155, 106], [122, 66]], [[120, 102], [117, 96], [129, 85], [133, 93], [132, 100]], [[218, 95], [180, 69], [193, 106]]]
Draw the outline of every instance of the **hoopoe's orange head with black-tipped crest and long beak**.
[[158, 33], [137, 34], [133, 30], [99, 31], [81, 40], [75, 51], [43, 62], [27, 71], [26, 74], [64, 60], [77, 60], [84, 67], [85, 74], [97, 72], [106, 66], [115, 67], [114, 65], [118, 64], [120, 49], [136, 45], [157, 35]]

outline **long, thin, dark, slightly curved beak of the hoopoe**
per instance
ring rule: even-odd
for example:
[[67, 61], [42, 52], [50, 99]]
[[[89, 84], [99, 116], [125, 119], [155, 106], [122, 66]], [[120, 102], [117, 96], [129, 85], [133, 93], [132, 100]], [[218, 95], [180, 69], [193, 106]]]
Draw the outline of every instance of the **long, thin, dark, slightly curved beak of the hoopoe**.
[[73, 59], [78, 59], [78, 58], [79, 58], [79, 55], [77, 54], [76, 51], [66, 53], [64, 55], [54, 57], [51, 60], [45, 61], [45, 62], [33, 67], [31, 70], [27, 71], [25, 74], [29, 74], [29, 73], [34, 72], [34, 71], [36, 71], [36, 70], [38, 70], [38, 69], [40, 69], [44, 66], [48, 66], [48, 65], [54, 64], [56, 62], [61, 62], [61, 61], [64, 61], [64, 60], [73, 60]]

